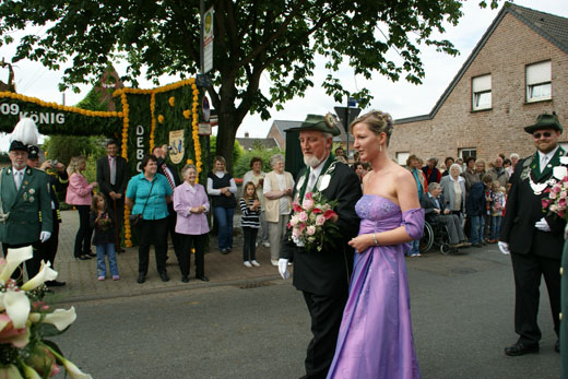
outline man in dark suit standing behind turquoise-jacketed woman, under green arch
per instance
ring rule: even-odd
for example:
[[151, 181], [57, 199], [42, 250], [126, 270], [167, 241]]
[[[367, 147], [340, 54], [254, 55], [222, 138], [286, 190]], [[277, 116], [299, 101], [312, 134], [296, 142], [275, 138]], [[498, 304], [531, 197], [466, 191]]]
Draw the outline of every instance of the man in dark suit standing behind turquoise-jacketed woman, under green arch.
[[107, 155], [96, 162], [96, 181], [98, 188], [107, 197], [110, 212], [115, 216], [115, 237], [117, 252], [123, 252], [120, 247], [120, 232], [125, 220], [125, 192], [130, 179], [127, 159], [118, 155], [116, 141], [107, 142]]

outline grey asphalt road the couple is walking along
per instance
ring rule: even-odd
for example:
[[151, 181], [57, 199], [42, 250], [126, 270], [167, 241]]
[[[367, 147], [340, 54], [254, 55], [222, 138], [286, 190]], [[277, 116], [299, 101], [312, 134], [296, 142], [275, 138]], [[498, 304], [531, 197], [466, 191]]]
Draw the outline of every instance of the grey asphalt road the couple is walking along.
[[[545, 291], [541, 353], [502, 352], [517, 340], [513, 281], [495, 246], [406, 262], [423, 378], [558, 378]], [[300, 293], [289, 281], [247, 283], [74, 301], [78, 320], [55, 341], [94, 378], [300, 377], [310, 339]]]

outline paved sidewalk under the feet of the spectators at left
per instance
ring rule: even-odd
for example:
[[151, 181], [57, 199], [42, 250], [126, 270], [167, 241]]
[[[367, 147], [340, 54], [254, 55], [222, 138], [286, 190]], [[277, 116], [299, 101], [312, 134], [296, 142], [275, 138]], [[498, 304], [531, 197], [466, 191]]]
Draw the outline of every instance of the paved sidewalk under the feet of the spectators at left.
[[[188, 288], [210, 287], [218, 285], [255, 285], [255, 283], [280, 279], [277, 268], [270, 262], [270, 251], [259, 245], [257, 260], [260, 268], [247, 269], [242, 265], [242, 239], [240, 234], [235, 236], [234, 249], [223, 256], [216, 248], [216, 237], [211, 239], [211, 251], [205, 253], [205, 275], [210, 282], [201, 282], [194, 279], [193, 258], [191, 258], [191, 276], [189, 283], [182, 283], [178, 262], [171, 244], [168, 250], [167, 271], [169, 282], [162, 282], [157, 272], [154, 249], [150, 249], [150, 269], [146, 282], [137, 283], [138, 277], [138, 247], [127, 248], [126, 252], [117, 254], [119, 281], [110, 280], [109, 272], [105, 281], [97, 280], [96, 258], [82, 261], [73, 258], [75, 234], [79, 228], [79, 214], [76, 211], [61, 212], [62, 224], [59, 232], [59, 249], [57, 252], [55, 269], [59, 272], [58, 280], [67, 282], [63, 287], [52, 287], [56, 293], [56, 301], [78, 301], [97, 298], [113, 298], [121, 296], [135, 296], [152, 293], [162, 293]], [[238, 224], [235, 224], [238, 225]], [[235, 227], [237, 233], [240, 227]], [[93, 252], [95, 247], [93, 246]], [[108, 270], [107, 270], [108, 271]]]

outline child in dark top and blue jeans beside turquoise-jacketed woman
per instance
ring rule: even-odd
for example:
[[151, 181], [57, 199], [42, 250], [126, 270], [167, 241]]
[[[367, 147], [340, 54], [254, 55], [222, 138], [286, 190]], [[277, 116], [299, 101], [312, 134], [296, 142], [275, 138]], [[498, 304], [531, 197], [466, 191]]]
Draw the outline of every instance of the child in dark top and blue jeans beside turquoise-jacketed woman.
[[93, 245], [96, 246], [96, 269], [98, 280], [106, 277], [105, 254], [108, 258], [108, 267], [114, 281], [118, 281], [118, 265], [115, 247], [115, 221], [108, 212], [106, 198], [98, 192], [93, 196], [91, 204], [91, 227], [94, 229]]

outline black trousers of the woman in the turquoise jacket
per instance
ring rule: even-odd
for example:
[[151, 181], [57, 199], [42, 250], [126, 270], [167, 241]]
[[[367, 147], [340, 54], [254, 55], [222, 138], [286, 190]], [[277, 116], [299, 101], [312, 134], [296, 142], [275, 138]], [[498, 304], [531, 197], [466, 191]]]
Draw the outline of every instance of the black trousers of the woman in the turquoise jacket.
[[166, 272], [167, 253], [167, 217], [161, 220], [142, 220], [138, 226], [138, 272], [147, 274], [150, 245], [154, 245], [157, 272]]

